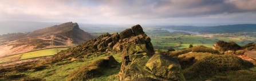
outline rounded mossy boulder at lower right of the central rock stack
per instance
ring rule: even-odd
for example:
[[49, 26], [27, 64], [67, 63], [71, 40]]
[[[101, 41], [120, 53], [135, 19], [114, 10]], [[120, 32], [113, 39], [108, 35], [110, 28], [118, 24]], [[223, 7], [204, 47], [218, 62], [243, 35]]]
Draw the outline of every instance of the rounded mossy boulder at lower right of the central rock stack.
[[185, 80], [178, 60], [170, 56], [155, 54], [148, 60], [145, 66], [156, 76], [170, 80]]

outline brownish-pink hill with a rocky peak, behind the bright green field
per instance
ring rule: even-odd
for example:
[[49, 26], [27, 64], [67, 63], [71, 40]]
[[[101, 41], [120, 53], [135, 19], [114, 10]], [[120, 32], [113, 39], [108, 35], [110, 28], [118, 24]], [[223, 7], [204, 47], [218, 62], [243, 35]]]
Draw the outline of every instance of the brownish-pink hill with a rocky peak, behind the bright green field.
[[0, 35], [0, 57], [52, 47], [74, 47], [92, 39], [77, 23], [67, 22], [31, 33]]

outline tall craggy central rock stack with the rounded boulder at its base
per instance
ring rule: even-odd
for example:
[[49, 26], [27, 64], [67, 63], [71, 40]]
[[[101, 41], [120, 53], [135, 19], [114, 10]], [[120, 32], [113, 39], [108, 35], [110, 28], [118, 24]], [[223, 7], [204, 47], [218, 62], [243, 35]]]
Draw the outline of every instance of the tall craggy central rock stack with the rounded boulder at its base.
[[[133, 31], [133, 34], [131, 33]], [[155, 54], [151, 39], [140, 25], [133, 26], [120, 34], [123, 45], [119, 80], [185, 80], [178, 60], [170, 56]], [[117, 43], [113, 47], [119, 46]], [[152, 57], [151, 57], [152, 56]], [[151, 57], [151, 58], [150, 58]]]

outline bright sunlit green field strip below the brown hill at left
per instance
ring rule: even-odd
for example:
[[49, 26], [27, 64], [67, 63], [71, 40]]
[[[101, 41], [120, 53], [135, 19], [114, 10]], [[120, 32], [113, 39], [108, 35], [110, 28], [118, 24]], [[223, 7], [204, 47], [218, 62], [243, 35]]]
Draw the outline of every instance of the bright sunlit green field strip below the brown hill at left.
[[23, 53], [23, 55], [21, 56], [21, 59], [37, 58], [37, 57], [41, 57], [41, 56], [51, 56], [51, 55], [54, 55], [54, 54], [56, 54], [57, 52], [59, 52], [61, 50], [66, 50], [68, 48], [70, 48], [70, 47], [49, 48], [49, 49], [45, 49], [45, 50], [26, 52], [26, 53]]

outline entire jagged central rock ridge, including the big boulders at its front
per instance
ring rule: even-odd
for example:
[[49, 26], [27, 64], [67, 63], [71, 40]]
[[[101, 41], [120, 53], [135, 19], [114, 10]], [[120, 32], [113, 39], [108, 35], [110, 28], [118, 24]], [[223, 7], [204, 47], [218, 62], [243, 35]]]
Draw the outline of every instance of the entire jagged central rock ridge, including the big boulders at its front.
[[53, 56], [58, 62], [93, 52], [121, 52], [119, 80], [185, 80], [178, 60], [155, 53], [151, 39], [140, 25], [120, 34], [105, 33]]

